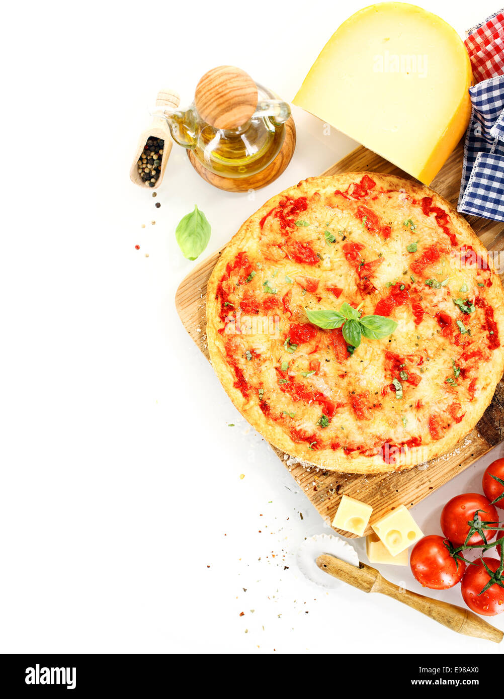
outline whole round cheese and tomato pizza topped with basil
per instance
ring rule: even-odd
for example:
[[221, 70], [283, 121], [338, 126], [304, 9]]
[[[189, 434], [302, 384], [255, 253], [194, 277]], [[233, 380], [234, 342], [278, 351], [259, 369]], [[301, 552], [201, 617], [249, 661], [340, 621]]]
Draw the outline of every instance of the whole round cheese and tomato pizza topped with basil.
[[503, 374], [492, 257], [447, 201], [393, 175], [310, 178], [274, 196], [222, 252], [206, 308], [236, 408], [328, 470], [444, 454]]

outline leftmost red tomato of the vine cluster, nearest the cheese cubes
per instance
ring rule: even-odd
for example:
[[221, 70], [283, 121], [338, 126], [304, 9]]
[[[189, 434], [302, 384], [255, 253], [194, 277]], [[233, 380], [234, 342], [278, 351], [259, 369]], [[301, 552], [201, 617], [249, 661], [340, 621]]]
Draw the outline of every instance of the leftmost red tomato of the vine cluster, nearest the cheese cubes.
[[[437, 534], [420, 539], [410, 556], [411, 571], [418, 582], [431, 590], [447, 590], [461, 581], [466, 563], [449, 555], [446, 539]], [[457, 567], [458, 564], [458, 567]]]

